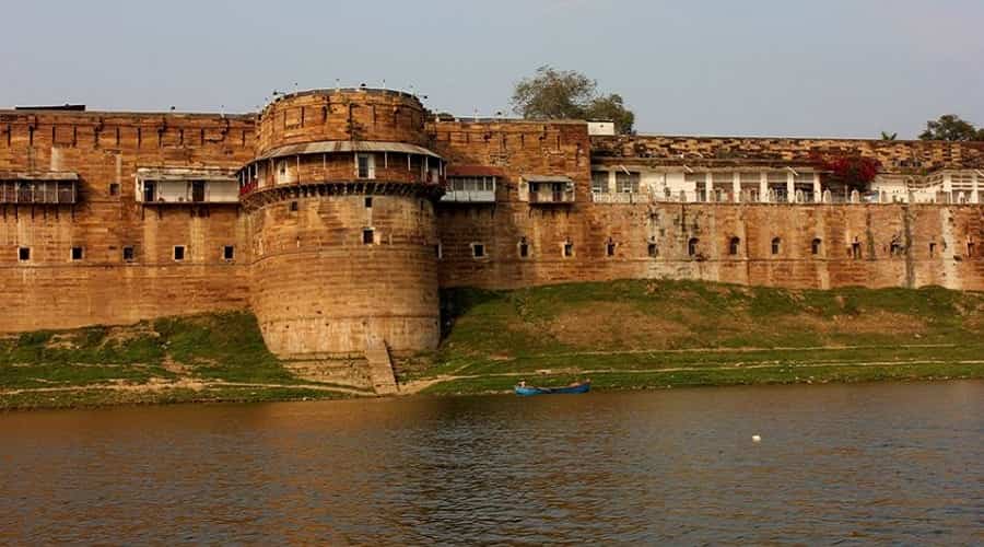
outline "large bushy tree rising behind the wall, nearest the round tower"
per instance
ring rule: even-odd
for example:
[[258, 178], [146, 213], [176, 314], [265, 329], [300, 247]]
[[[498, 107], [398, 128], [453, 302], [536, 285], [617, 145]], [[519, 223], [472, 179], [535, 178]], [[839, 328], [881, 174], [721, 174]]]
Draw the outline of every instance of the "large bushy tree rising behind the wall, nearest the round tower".
[[573, 70], [543, 66], [513, 90], [513, 110], [524, 118], [611, 119], [619, 132], [632, 132], [635, 115], [621, 95], [598, 94], [598, 82]]

